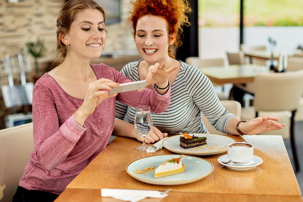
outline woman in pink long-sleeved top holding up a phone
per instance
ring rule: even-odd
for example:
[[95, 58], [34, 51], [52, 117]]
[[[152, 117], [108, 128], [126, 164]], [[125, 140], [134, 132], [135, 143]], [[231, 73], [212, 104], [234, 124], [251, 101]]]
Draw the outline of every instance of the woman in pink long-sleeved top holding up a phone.
[[[65, 3], [57, 19], [61, 61], [45, 73], [33, 91], [35, 151], [25, 167], [13, 201], [53, 201], [109, 143], [115, 101], [165, 111], [170, 102], [169, 74], [177, 67], [151, 65], [144, 88], [108, 94], [128, 78], [108, 65], [90, 64], [104, 48], [105, 12], [92, 0]], [[144, 78], [145, 79], [145, 78]], [[142, 79], [142, 80], [144, 80]]]

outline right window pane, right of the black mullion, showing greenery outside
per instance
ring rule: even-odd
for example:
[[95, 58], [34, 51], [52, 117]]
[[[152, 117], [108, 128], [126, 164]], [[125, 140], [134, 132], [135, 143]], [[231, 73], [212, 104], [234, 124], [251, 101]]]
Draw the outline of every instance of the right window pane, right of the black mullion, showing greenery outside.
[[291, 54], [303, 45], [303, 1], [244, 0], [244, 43], [267, 46], [268, 37], [277, 42], [276, 51]]

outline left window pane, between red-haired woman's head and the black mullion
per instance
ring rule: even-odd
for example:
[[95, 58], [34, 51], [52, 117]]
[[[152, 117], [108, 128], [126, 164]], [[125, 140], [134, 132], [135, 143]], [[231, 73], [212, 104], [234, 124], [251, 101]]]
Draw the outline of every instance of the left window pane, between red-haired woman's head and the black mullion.
[[199, 57], [239, 50], [240, 0], [199, 0]]

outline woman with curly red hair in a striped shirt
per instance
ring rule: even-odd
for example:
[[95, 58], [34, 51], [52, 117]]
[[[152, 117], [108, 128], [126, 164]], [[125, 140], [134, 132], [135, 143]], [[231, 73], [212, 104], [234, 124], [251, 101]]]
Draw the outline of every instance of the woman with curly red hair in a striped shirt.
[[[146, 137], [147, 143], [179, 132], [208, 133], [201, 121], [201, 112], [218, 131], [226, 134], [259, 134], [284, 127], [284, 124], [275, 122], [278, 118], [271, 116], [247, 122], [239, 120], [221, 105], [207, 76], [196, 67], [174, 59], [172, 49], [177, 49], [182, 43], [182, 27], [190, 25], [188, 14], [191, 8], [187, 0], [137, 0], [131, 3], [133, 11], [130, 12], [129, 21], [138, 52], [143, 59], [128, 63], [121, 73], [133, 81], [139, 81], [146, 77], [150, 65], [178, 65], [178, 69], [168, 78], [171, 84], [171, 103], [167, 111], [151, 114], [153, 127]], [[128, 122], [123, 121], [125, 115]], [[134, 120], [135, 108], [116, 101], [113, 132], [141, 141], [141, 135], [133, 126]], [[236, 129], [237, 124], [240, 131]]]

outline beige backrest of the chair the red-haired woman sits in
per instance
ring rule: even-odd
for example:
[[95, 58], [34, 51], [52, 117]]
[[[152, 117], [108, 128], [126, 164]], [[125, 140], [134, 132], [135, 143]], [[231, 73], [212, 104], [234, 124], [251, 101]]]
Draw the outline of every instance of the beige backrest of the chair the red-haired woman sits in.
[[[241, 104], [239, 102], [234, 100], [222, 100], [221, 104], [223, 105], [223, 107], [225, 107], [225, 109], [227, 109], [227, 111], [229, 111], [232, 114], [235, 114], [238, 118], [240, 118]], [[208, 119], [204, 116], [204, 114], [201, 115], [202, 115], [203, 124], [211, 134], [224, 134], [220, 131], [217, 131], [214, 127], [212, 127], [212, 125], [209, 123]]]

